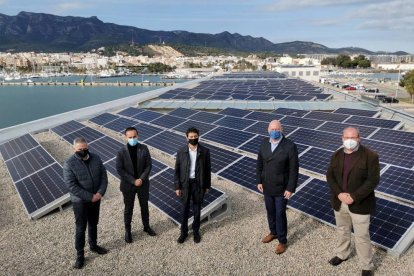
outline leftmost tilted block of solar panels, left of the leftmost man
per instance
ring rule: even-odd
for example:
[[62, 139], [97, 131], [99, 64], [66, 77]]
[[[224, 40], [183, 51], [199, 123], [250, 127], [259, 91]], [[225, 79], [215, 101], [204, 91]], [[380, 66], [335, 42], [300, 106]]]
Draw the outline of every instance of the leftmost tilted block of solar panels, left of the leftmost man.
[[30, 218], [70, 200], [62, 166], [30, 134], [1, 144], [0, 152]]

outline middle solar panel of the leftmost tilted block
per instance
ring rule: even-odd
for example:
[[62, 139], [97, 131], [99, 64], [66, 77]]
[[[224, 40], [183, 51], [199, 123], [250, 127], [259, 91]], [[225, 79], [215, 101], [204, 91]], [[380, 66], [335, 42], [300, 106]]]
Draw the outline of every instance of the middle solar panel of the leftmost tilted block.
[[41, 146], [7, 160], [6, 166], [14, 182], [36, 172], [56, 161]]

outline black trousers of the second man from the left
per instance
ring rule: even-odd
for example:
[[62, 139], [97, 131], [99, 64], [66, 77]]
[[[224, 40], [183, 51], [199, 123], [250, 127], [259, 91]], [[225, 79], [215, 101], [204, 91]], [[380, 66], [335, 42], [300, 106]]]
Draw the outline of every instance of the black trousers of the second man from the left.
[[131, 231], [132, 215], [134, 213], [135, 195], [138, 197], [139, 206], [141, 208], [141, 219], [144, 228], [149, 227], [149, 211], [148, 211], [148, 198], [149, 187], [141, 186], [134, 188], [132, 191], [122, 193], [124, 195], [124, 223], [125, 230]]

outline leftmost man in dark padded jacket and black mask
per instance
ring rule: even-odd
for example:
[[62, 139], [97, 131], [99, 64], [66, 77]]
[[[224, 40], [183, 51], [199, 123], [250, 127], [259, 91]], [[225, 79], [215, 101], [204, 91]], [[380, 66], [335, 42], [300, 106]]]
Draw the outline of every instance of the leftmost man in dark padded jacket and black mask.
[[108, 186], [106, 169], [98, 155], [90, 153], [85, 138], [73, 142], [75, 154], [63, 165], [63, 179], [68, 187], [75, 213], [77, 258], [74, 267], [80, 269], [85, 263], [85, 231], [88, 226], [89, 247], [98, 254], [108, 250], [97, 245], [99, 208]]

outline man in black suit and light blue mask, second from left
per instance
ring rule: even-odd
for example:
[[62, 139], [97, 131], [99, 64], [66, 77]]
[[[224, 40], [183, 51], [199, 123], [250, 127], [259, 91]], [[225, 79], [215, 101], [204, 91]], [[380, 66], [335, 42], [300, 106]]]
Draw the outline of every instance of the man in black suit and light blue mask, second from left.
[[149, 225], [149, 175], [152, 161], [147, 146], [138, 142], [138, 131], [134, 127], [125, 130], [127, 144], [116, 156], [116, 170], [121, 177], [120, 190], [124, 196], [125, 242], [132, 242], [131, 222], [134, 211], [135, 195], [138, 196], [141, 208], [141, 219], [144, 232], [150, 236], [156, 233]]

